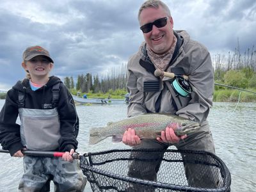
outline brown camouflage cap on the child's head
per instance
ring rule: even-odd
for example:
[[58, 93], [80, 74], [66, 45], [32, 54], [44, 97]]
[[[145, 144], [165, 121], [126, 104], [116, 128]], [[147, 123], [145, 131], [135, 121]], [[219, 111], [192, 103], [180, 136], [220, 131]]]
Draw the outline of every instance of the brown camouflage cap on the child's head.
[[51, 63], [53, 63], [53, 60], [52, 60], [52, 58], [49, 54], [49, 51], [47, 51], [46, 49], [44, 49], [43, 47], [40, 47], [38, 45], [33, 46], [33, 47], [28, 47], [23, 52], [22, 58], [23, 58], [24, 61], [29, 61], [29, 60], [31, 60], [32, 58], [35, 58], [35, 56], [38, 56], [38, 55], [46, 56], [51, 61]]

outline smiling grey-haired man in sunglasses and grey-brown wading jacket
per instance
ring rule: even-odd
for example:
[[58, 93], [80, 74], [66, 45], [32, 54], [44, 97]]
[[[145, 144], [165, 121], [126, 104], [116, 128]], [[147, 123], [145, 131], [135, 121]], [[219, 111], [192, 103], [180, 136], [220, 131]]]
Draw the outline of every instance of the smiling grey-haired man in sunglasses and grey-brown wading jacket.
[[[191, 40], [186, 31], [173, 31], [170, 10], [161, 1], [149, 0], [143, 3], [138, 20], [145, 42], [128, 63], [128, 116], [171, 113], [199, 122], [201, 128], [188, 135], [176, 136], [173, 131], [177, 129], [176, 125], [170, 125], [161, 132], [161, 137], [157, 140], [140, 140], [134, 129], [128, 129], [123, 136], [123, 142], [136, 149], [167, 149], [174, 145], [181, 150], [205, 150], [214, 153], [212, 134], [206, 120], [212, 106], [214, 88], [209, 52], [204, 45]], [[174, 73], [181, 71], [182, 75], [188, 76], [191, 88], [191, 93], [188, 90], [188, 97], [181, 96], [179, 88], [175, 90], [170, 77], [154, 76], [156, 69]], [[147, 154], [143, 156], [147, 157]], [[129, 176], [156, 180], [160, 164], [161, 162], [148, 163], [145, 170], [136, 170], [136, 165], [132, 164]], [[185, 164], [185, 170], [190, 186], [202, 188], [217, 185], [218, 181], [209, 179], [206, 175], [194, 177], [196, 173], [192, 166]]]

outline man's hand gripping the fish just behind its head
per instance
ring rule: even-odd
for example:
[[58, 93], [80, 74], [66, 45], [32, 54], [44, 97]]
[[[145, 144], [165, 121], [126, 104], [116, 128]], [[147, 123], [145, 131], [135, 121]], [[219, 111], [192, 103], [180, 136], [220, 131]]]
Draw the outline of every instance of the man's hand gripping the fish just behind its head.
[[179, 143], [180, 140], [184, 140], [187, 135], [177, 136], [174, 132], [178, 128], [177, 124], [170, 124], [165, 128], [165, 131], [161, 131], [161, 138], [157, 138], [157, 141], [161, 143]]

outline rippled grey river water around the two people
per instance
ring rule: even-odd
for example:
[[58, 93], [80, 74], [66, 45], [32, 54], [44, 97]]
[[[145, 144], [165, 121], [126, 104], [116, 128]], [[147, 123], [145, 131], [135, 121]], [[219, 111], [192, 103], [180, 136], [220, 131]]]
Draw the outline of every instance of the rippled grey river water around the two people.
[[[4, 100], [0, 100], [0, 108]], [[124, 144], [111, 143], [108, 138], [96, 145], [88, 145], [90, 127], [100, 127], [108, 122], [126, 118], [127, 106], [92, 105], [77, 106], [80, 131], [77, 152], [96, 152], [113, 148], [127, 148]], [[216, 155], [230, 170], [231, 191], [256, 191], [256, 104], [214, 102], [209, 114]], [[18, 191], [22, 177], [22, 158], [1, 154], [0, 191]], [[51, 185], [52, 188], [52, 185]], [[92, 191], [87, 183], [84, 191]]]

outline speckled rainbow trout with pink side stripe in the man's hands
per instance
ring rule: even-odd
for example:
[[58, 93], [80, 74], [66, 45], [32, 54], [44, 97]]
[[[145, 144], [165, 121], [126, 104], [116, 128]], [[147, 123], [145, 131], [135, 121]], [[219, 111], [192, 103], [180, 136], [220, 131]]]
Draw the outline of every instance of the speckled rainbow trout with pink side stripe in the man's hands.
[[177, 115], [163, 113], [143, 113], [132, 116], [117, 122], [109, 122], [105, 127], [93, 127], [90, 129], [89, 145], [94, 145], [100, 141], [112, 137], [113, 143], [122, 141], [124, 132], [129, 128], [135, 130], [136, 135], [141, 139], [156, 139], [161, 136], [168, 125], [177, 124], [175, 134], [182, 136], [200, 129], [200, 124], [187, 118]]

